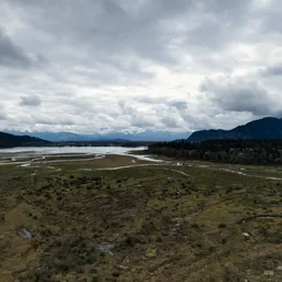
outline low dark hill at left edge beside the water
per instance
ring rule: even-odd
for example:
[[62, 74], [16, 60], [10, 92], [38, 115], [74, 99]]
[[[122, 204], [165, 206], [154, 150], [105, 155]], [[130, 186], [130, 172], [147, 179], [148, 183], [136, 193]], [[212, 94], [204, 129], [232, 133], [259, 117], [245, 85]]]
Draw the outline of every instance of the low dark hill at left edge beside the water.
[[46, 145], [48, 144], [48, 141], [29, 137], [29, 135], [22, 135], [17, 137], [13, 134], [8, 134], [0, 132], [0, 148], [13, 148], [13, 147], [31, 147], [31, 145]]

